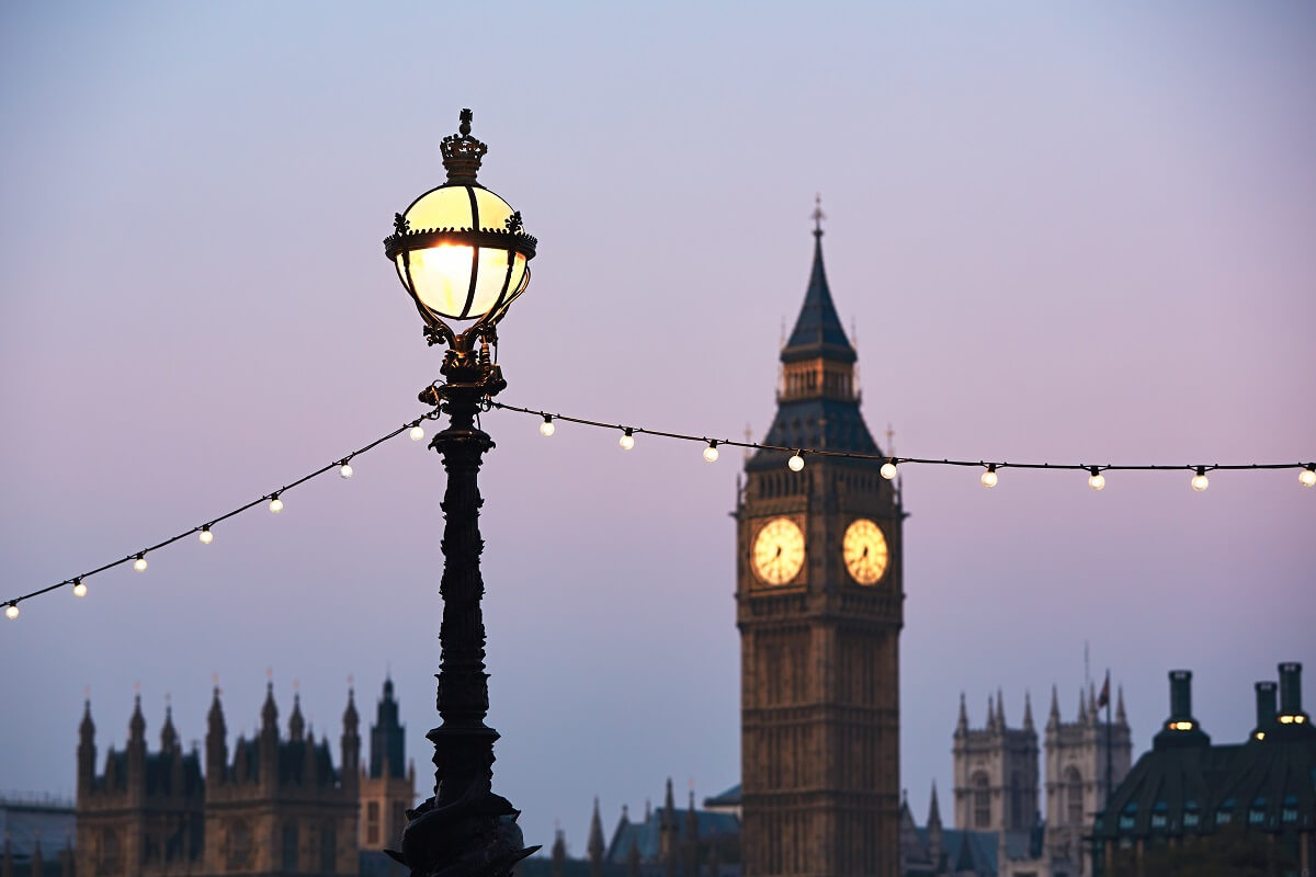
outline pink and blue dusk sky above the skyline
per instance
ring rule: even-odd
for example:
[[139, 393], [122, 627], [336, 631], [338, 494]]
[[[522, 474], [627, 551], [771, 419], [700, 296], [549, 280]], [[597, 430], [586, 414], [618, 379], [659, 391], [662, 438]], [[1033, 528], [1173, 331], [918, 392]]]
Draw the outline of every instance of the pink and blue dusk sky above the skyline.
[[[421, 413], [438, 377], [384, 260], [475, 112], [540, 238], [501, 401], [762, 438], [809, 212], [863, 414], [908, 456], [1316, 458], [1316, 5], [17, 4], [0, 8], [0, 600], [203, 523]], [[495, 790], [583, 855], [599, 795], [738, 781], [737, 452], [484, 417]], [[399, 438], [0, 619], [0, 792], [74, 789], [89, 688], [205, 732], [266, 668], [317, 734], [397, 684], [422, 794], [443, 488]], [[959, 693], [1073, 719], [1124, 686], [1134, 753], [1191, 668], [1216, 742], [1307, 665], [1316, 489], [1295, 472], [904, 472], [901, 785], [949, 818]], [[1309, 707], [1308, 707], [1309, 709]]]

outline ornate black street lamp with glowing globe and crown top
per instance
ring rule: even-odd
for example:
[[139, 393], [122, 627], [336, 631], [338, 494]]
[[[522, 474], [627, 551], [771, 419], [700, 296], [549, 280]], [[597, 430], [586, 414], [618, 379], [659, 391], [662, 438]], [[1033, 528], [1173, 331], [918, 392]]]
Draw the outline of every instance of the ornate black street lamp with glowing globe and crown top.
[[[441, 146], [447, 181], [396, 214], [393, 234], [384, 239], [384, 254], [425, 322], [426, 341], [447, 346], [443, 383], [426, 387], [420, 400], [449, 415], [447, 429], [429, 443], [447, 471], [438, 634], [442, 723], [425, 735], [434, 744], [434, 795], [408, 811], [401, 852], [387, 852], [416, 876], [504, 877], [538, 847], [521, 847], [519, 811], [490, 788], [499, 735], [484, 724], [490, 696], [476, 476], [494, 442], [475, 417], [507, 387], [490, 346], [496, 351], [497, 323], [530, 281], [526, 263], [536, 239], [522, 230], [520, 212], [476, 181], [488, 147], [471, 137], [471, 110], [462, 110], [458, 130]], [[474, 322], [455, 331], [447, 321]]]

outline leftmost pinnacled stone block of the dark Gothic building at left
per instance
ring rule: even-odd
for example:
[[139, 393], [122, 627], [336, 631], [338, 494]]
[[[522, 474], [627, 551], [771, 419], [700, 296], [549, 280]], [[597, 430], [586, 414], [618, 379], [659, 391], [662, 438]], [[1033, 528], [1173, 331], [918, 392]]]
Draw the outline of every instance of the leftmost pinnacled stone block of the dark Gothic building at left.
[[78, 744], [75, 870], [84, 877], [195, 873], [205, 803], [200, 755], [183, 752], [167, 707], [161, 748], [149, 752], [141, 697], [128, 727], [128, 746], [108, 749], [105, 772], [97, 776], [87, 702]]

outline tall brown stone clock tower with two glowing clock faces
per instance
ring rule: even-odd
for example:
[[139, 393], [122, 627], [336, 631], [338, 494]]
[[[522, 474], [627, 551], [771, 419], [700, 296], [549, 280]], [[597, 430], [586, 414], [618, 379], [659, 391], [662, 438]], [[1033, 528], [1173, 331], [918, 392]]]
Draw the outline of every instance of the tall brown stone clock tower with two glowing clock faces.
[[[880, 455], [822, 268], [765, 444]], [[746, 877], [898, 877], [904, 518], [880, 460], [758, 451], [736, 509]]]

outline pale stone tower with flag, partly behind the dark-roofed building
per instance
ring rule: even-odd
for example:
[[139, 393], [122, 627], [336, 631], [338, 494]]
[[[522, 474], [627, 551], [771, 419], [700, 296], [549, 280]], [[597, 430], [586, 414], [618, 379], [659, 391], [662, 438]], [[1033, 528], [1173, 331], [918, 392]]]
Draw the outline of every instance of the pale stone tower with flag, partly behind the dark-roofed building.
[[[1109, 688], [1104, 692], [1109, 697]], [[1045, 743], [1048, 853], [1053, 860], [1074, 863], [1075, 876], [1084, 874], [1088, 872], [1082, 839], [1091, 834], [1092, 819], [1105, 806], [1107, 794], [1120, 785], [1132, 765], [1133, 738], [1124, 714], [1124, 689], [1116, 696], [1115, 718], [1107, 723], [1094, 686], [1079, 690], [1074, 722], [1061, 721], [1059, 698], [1053, 688]]]

